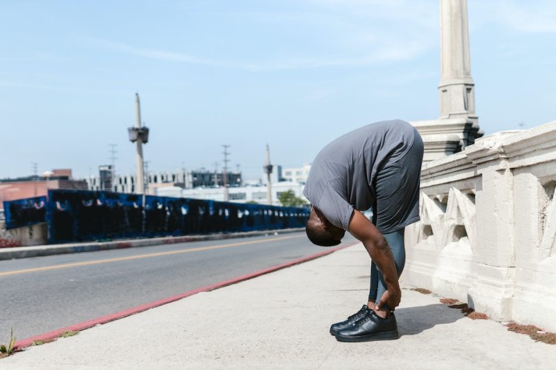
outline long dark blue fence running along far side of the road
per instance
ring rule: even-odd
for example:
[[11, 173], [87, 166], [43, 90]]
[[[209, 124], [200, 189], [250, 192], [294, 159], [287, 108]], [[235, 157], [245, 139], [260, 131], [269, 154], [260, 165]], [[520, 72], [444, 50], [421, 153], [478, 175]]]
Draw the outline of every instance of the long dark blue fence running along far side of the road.
[[[87, 190], [49, 190], [44, 203], [46, 212], [40, 222], [47, 222], [50, 244], [298, 228], [305, 226], [310, 212], [309, 208]], [[36, 202], [20, 204], [23, 208], [17, 215], [25, 215]], [[33, 215], [36, 223], [39, 217]], [[11, 219], [10, 225], [25, 222], [30, 224], [19, 217]]]

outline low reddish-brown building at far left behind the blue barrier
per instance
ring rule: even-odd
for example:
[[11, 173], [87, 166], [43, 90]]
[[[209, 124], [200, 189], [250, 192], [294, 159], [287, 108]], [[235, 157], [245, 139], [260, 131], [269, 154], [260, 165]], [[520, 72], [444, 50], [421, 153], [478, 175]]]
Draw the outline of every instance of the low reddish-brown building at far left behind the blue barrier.
[[86, 190], [85, 180], [74, 180], [71, 169], [53, 169], [42, 176], [26, 176], [19, 178], [0, 179], [0, 209], [3, 202], [15, 199], [44, 196], [49, 189], [79, 189]]

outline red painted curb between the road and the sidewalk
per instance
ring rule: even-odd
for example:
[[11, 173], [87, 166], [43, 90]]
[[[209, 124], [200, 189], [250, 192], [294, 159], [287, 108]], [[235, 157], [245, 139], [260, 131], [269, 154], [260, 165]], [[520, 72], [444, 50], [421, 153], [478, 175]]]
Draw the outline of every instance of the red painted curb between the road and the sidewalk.
[[352, 246], [352, 245], [357, 244], [357, 243], [359, 243], [359, 242], [353, 242], [351, 244], [346, 244], [346, 245], [343, 245], [343, 246], [338, 246], [336, 248], [327, 249], [326, 251], [322, 251], [322, 252], [315, 253], [315, 254], [312, 254], [312, 255], [307, 255], [306, 257], [300, 258], [298, 260], [293, 260], [293, 261], [290, 261], [290, 262], [279, 264], [277, 266], [268, 267], [267, 269], [262, 269], [262, 270], [259, 270], [259, 271], [255, 271], [255, 272], [252, 272], [251, 274], [241, 275], [241, 276], [238, 276], [236, 278], [231, 278], [229, 280], [221, 281], [220, 283], [214, 283], [214, 284], [211, 284], [211, 285], [207, 285], [206, 287], [200, 287], [198, 289], [190, 290], [189, 292], [177, 294], [175, 296], [170, 296], [170, 297], [167, 297], [167, 298], [162, 298], [162, 299], [159, 299], [158, 301], [145, 303], [144, 305], [138, 305], [137, 307], [129, 308], [128, 310], [124, 310], [124, 311], [120, 311], [120, 312], [116, 312], [115, 314], [108, 314], [106, 316], [98, 317], [97, 319], [83, 321], [81, 323], [76, 323], [74, 325], [66, 326], [65, 328], [60, 328], [60, 329], [49, 331], [48, 333], [35, 335], [34, 337], [28, 337], [26, 339], [22, 339], [20, 341], [17, 341], [16, 344], [15, 344], [15, 349], [21, 350], [22, 348], [31, 346], [31, 344], [33, 344], [33, 342], [35, 342], [37, 340], [44, 341], [44, 342], [51, 341], [53, 339], [56, 339], [56, 338], [60, 337], [60, 334], [64, 333], [65, 331], [85, 330], [85, 329], [88, 329], [88, 328], [92, 328], [93, 326], [97, 326], [97, 325], [100, 325], [100, 324], [103, 324], [103, 323], [108, 323], [110, 321], [114, 321], [114, 320], [117, 320], [117, 319], [122, 319], [122, 318], [127, 317], [127, 316], [131, 316], [132, 314], [137, 314], [139, 312], [150, 310], [151, 308], [155, 308], [155, 307], [158, 307], [158, 306], [161, 306], [161, 305], [165, 305], [166, 303], [178, 301], [181, 298], [186, 298], [188, 296], [193, 296], [193, 294], [197, 294], [197, 293], [200, 293], [200, 292], [209, 292], [209, 291], [214, 290], [214, 289], [218, 289], [218, 288], [221, 288], [221, 287], [226, 287], [227, 285], [240, 283], [240, 282], [245, 281], [245, 280], [256, 278], [257, 276], [261, 276], [261, 275], [264, 275], [264, 274], [269, 274], [270, 272], [285, 269], [286, 267], [291, 267], [291, 266], [294, 266], [295, 264], [300, 264], [300, 263], [307, 262], [307, 261], [310, 261], [310, 260], [315, 260], [316, 258], [320, 258], [320, 257], [328, 255], [330, 253], [334, 253], [335, 251], [345, 249], [348, 246]]

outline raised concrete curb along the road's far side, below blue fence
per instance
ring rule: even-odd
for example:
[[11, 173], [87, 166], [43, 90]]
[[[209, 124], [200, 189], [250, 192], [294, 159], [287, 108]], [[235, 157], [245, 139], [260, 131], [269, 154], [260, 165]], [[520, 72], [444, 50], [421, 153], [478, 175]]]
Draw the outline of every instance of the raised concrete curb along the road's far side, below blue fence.
[[237, 237], [256, 237], [267, 234], [297, 233], [304, 228], [285, 228], [279, 230], [257, 230], [245, 233], [183, 235], [179, 237], [152, 237], [149, 239], [118, 239], [111, 242], [83, 242], [72, 244], [52, 244], [42, 246], [16, 246], [0, 249], [0, 260], [16, 258], [41, 257], [44, 255], [58, 255], [65, 253], [83, 253], [107, 251], [109, 249], [135, 248], [138, 246], [154, 246], [158, 244], [176, 244], [187, 242], [202, 242], [204, 240], [231, 239]]

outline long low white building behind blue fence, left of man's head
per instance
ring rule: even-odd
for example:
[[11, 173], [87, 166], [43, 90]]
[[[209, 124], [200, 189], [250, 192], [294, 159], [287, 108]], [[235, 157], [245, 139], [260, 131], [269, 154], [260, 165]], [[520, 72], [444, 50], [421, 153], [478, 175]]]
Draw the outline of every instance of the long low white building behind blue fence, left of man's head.
[[[299, 183], [290, 183], [281, 181], [272, 183], [272, 205], [281, 205], [279, 197], [283, 192], [293, 190], [295, 196], [306, 201], [303, 196], [304, 185]], [[195, 189], [183, 189], [181, 187], [158, 187], [155, 190], [159, 196], [174, 196], [176, 198], [194, 198], [206, 199], [212, 201], [224, 201], [223, 187], [197, 187]], [[266, 185], [260, 186], [241, 186], [230, 187], [228, 189], [229, 201], [234, 203], [256, 202], [259, 204], [266, 203]], [[307, 202], [309, 203], [309, 202]]]

